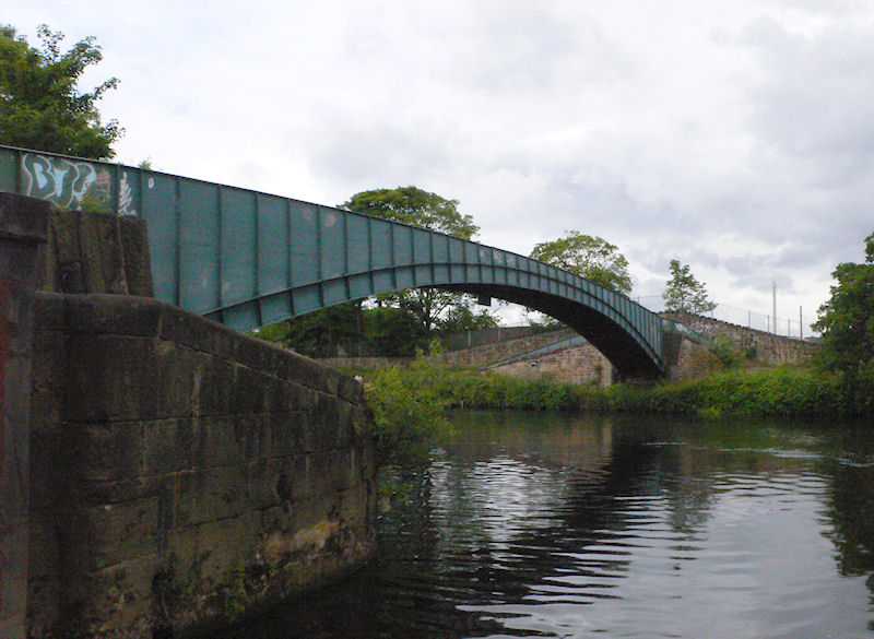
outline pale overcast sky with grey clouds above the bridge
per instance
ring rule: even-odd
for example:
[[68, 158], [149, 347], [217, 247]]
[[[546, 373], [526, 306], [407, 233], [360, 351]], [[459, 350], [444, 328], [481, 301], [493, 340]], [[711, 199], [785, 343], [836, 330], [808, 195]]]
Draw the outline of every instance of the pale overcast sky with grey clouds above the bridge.
[[[798, 322], [874, 232], [874, 1], [8, 0], [121, 82], [117, 159], [335, 205], [415, 185], [485, 244], [577, 229]], [[786, 321], [786, 320], [783, 320]], [[796, 329], [795, 329], [796, 330]]]

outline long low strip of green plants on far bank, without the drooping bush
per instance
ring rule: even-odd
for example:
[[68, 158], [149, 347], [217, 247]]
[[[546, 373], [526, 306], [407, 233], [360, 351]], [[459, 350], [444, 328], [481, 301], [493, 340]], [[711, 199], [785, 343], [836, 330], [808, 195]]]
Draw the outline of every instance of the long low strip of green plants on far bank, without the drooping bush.
[[[806, 367], [730, 370], [683, 382], [627, 382], [606, 388], [518, 379], [494, 372], [414, 366], [364, 372], [386, 401], [393, 391], [421, 394], [447, 407], [523, 411], [634, 411], [725, 415], [862, 415], [874, 409], [872, 393], [852, 403], [836, 374]], [[871, 386], [871, 384], [867, 384]], [[409, 401], [410, 398], [406, 398]]]

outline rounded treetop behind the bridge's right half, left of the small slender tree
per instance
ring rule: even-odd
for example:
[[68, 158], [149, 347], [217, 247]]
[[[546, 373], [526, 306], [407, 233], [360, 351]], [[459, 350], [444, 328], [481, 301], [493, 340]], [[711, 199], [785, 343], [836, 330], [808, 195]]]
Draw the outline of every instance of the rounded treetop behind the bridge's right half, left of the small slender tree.
[[628, 295], [631, 292], [628, 260], [618, 247], [578, 230], [565, 233], [565, 237], [535, 245], [531, 258], [577, 273], [616, 293]]

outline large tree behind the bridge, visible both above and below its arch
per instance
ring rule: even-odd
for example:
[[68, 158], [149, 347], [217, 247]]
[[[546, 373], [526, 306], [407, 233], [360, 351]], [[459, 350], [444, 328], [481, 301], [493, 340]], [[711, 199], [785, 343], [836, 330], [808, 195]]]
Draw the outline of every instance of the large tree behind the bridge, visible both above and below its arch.
[[[473, 223], [471, 215], [459, 212], [458, 204], [458, 200], [447, 200], [437, 193], [410, 186], [362, 191], [340, 204], [340, 208], [446, 233], [462, 239], [471, 239], [479, 233], [480, 227]], [[441, 328], [444, 318], [452, 315], [452, 309], [461, 306], [472, 309], [473, 306], [470, 296], [439, 288], [401, 291], [382, 297], [382, 301], [413, 313], [422, 324], [427, 339], [434, 330]], [[454, 319], [457, 320], [463, 315], [456, 312]], [[488, 311], [477, 313], [471, 310], [469, 317], [474, 320], [475, 324], [483, 321], [480, 319], [483, 315], [497, 321]], [[458, 322], [453, 321], [453, 326], [457, 324]]]

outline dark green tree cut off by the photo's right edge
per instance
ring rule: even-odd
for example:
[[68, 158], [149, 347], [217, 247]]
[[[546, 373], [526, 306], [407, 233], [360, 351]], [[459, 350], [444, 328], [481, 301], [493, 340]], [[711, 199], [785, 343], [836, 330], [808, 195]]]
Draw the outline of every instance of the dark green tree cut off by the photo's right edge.
[[865, 238], [865, 263], [838, 264], [831, 276], [831, 298], [813, 326], [822, 333], [820, 362], [843, 374], [855, 394], [858, 380], [874, 369], [874, 233]]

